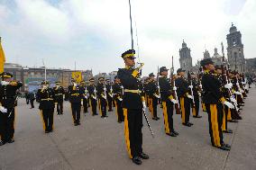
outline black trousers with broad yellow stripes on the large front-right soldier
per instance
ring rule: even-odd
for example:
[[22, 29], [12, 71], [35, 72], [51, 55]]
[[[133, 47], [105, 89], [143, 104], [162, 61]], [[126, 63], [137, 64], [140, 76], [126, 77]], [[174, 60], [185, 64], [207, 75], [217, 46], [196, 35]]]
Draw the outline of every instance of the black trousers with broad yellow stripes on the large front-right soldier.
[[206, 103], [206, 112], [208, 113], [209, 121], [209, 134], [211, 137], [212, 145], [215, 147], [221, 147], [223, 142], [223, 132], [222, 132], [222, 123], [223, 123], [223, 104], [207, 104]]

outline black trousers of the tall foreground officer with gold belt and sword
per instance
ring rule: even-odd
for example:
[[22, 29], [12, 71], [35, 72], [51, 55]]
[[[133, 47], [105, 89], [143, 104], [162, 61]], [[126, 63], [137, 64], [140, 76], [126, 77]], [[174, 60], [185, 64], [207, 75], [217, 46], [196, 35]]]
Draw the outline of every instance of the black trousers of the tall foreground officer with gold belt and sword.
[[130, 158], [142, 153], [142, 110], [123, 108], [124, 137]]

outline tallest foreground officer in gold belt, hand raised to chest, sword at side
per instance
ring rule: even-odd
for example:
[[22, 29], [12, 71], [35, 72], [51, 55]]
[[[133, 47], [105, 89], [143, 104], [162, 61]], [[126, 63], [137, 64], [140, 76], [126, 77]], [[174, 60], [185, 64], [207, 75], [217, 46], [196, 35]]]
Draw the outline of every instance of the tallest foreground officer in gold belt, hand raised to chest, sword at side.
[[135, 50], [130, 49], [122, 54], [125, 63], [124, 68], [118, 70], [124, 88], [123, 94], [123, 115], [124, 115], [124, 136], [129, 157], [136, 165], [142, 164], [142, 159], [149, 156], [142, 152], [142, 109], [146, 108], [144, 97], [140, 94], [140, 81], [137, 79], [141, 67], [134, 69]]

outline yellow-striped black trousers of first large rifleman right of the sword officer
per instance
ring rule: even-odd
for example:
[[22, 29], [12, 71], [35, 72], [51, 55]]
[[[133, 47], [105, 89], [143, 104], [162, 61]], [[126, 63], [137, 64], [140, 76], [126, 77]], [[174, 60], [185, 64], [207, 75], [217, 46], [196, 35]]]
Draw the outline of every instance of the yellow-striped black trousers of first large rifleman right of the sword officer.
[[170, 101], [162, 102], [162, 112], [165, 133], [169, 134], [173, 131], [173, 103], [171, 103]]

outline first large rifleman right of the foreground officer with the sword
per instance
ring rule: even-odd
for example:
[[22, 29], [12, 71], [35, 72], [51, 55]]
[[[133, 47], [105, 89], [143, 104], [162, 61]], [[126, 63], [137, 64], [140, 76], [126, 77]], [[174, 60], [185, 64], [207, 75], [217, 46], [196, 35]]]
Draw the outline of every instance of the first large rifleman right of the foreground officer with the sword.
[[168, 69], [166, 67], [160, 67], [160, 98], [163, 105], [163, 118], [165, 133], [171, 137], [177, 137], [178, 132], [173, 128], [173, 106], [177, 101], [172, 95], [173, 87], [171, 86], [168, 76]]

